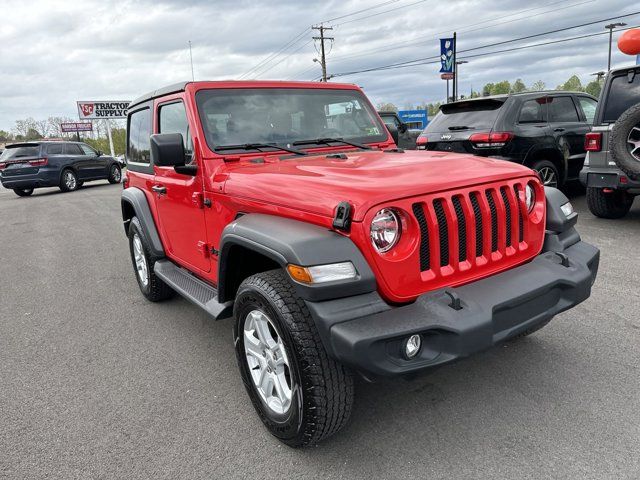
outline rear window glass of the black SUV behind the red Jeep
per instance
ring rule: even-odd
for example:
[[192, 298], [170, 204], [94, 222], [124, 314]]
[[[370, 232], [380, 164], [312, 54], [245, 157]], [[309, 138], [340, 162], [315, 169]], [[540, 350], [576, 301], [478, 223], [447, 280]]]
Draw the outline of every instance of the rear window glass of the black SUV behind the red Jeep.
[[473, 100], [456, 102], [440, 107], [440, 112], [427, 126], [425, 132], [477, 130], [493, 128], [504, 100]]

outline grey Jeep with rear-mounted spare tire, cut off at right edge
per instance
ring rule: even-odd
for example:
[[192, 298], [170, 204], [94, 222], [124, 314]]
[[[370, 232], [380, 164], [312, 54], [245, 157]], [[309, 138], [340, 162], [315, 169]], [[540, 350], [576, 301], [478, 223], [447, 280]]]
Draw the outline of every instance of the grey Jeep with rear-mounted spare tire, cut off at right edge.
[[624, 217], [640, 194], [640, 67], [611, 70], [587, 134], [580, 180], [601, 218]]

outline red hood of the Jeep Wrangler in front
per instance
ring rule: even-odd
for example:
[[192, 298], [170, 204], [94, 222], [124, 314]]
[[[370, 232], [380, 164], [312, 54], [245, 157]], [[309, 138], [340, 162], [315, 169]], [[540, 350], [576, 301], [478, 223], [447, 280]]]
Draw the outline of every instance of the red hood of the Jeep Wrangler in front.
[[392, 200], [531, 175], [522, 165], [460, 153], [376, 150], [343, 155], [227, 163], [224, 191], [328, 217], [338, 203], [348, 201], [353, 221], [361, 221], [370, 208]]

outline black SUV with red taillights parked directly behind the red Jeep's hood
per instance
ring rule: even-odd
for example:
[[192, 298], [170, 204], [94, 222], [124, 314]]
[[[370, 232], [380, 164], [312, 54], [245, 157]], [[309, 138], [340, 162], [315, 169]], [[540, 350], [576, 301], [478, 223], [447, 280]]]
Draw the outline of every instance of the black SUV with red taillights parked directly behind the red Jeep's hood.
[[578, 178], [597, 100], [580, 92], [527, 92], [461, 100], [418, 137], [418, 149], [473, 153], [526, 165], [546, 186]]

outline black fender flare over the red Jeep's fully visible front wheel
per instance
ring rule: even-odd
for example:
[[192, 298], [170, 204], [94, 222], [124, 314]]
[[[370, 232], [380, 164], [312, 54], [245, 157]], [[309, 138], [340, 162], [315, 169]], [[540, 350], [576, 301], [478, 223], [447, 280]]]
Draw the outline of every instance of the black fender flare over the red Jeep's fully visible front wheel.
[[262, 254], [282, 268], [324, 265], [350, 261], [356, 268], [354, 279], [307, 285], [294, 281], [296, 293], [309, 301], [343, 298], [376, 290], [376, 279], [369, 264], [350, 238], [328, 228], [265, 214], [246, 214], [225, 227], [220, 238], [218, 262], [218, 301], [232, 300], [228, 278], [234, 265], [229, 254], [234, 246]]

